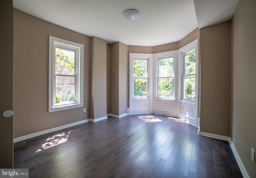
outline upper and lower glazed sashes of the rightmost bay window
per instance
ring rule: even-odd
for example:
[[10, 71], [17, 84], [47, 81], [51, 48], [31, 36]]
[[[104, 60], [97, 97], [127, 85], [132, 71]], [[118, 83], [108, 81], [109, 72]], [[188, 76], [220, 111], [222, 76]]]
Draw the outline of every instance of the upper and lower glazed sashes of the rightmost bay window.
[[196, 98], [196, 50], [183, 53], [183, 99]]

